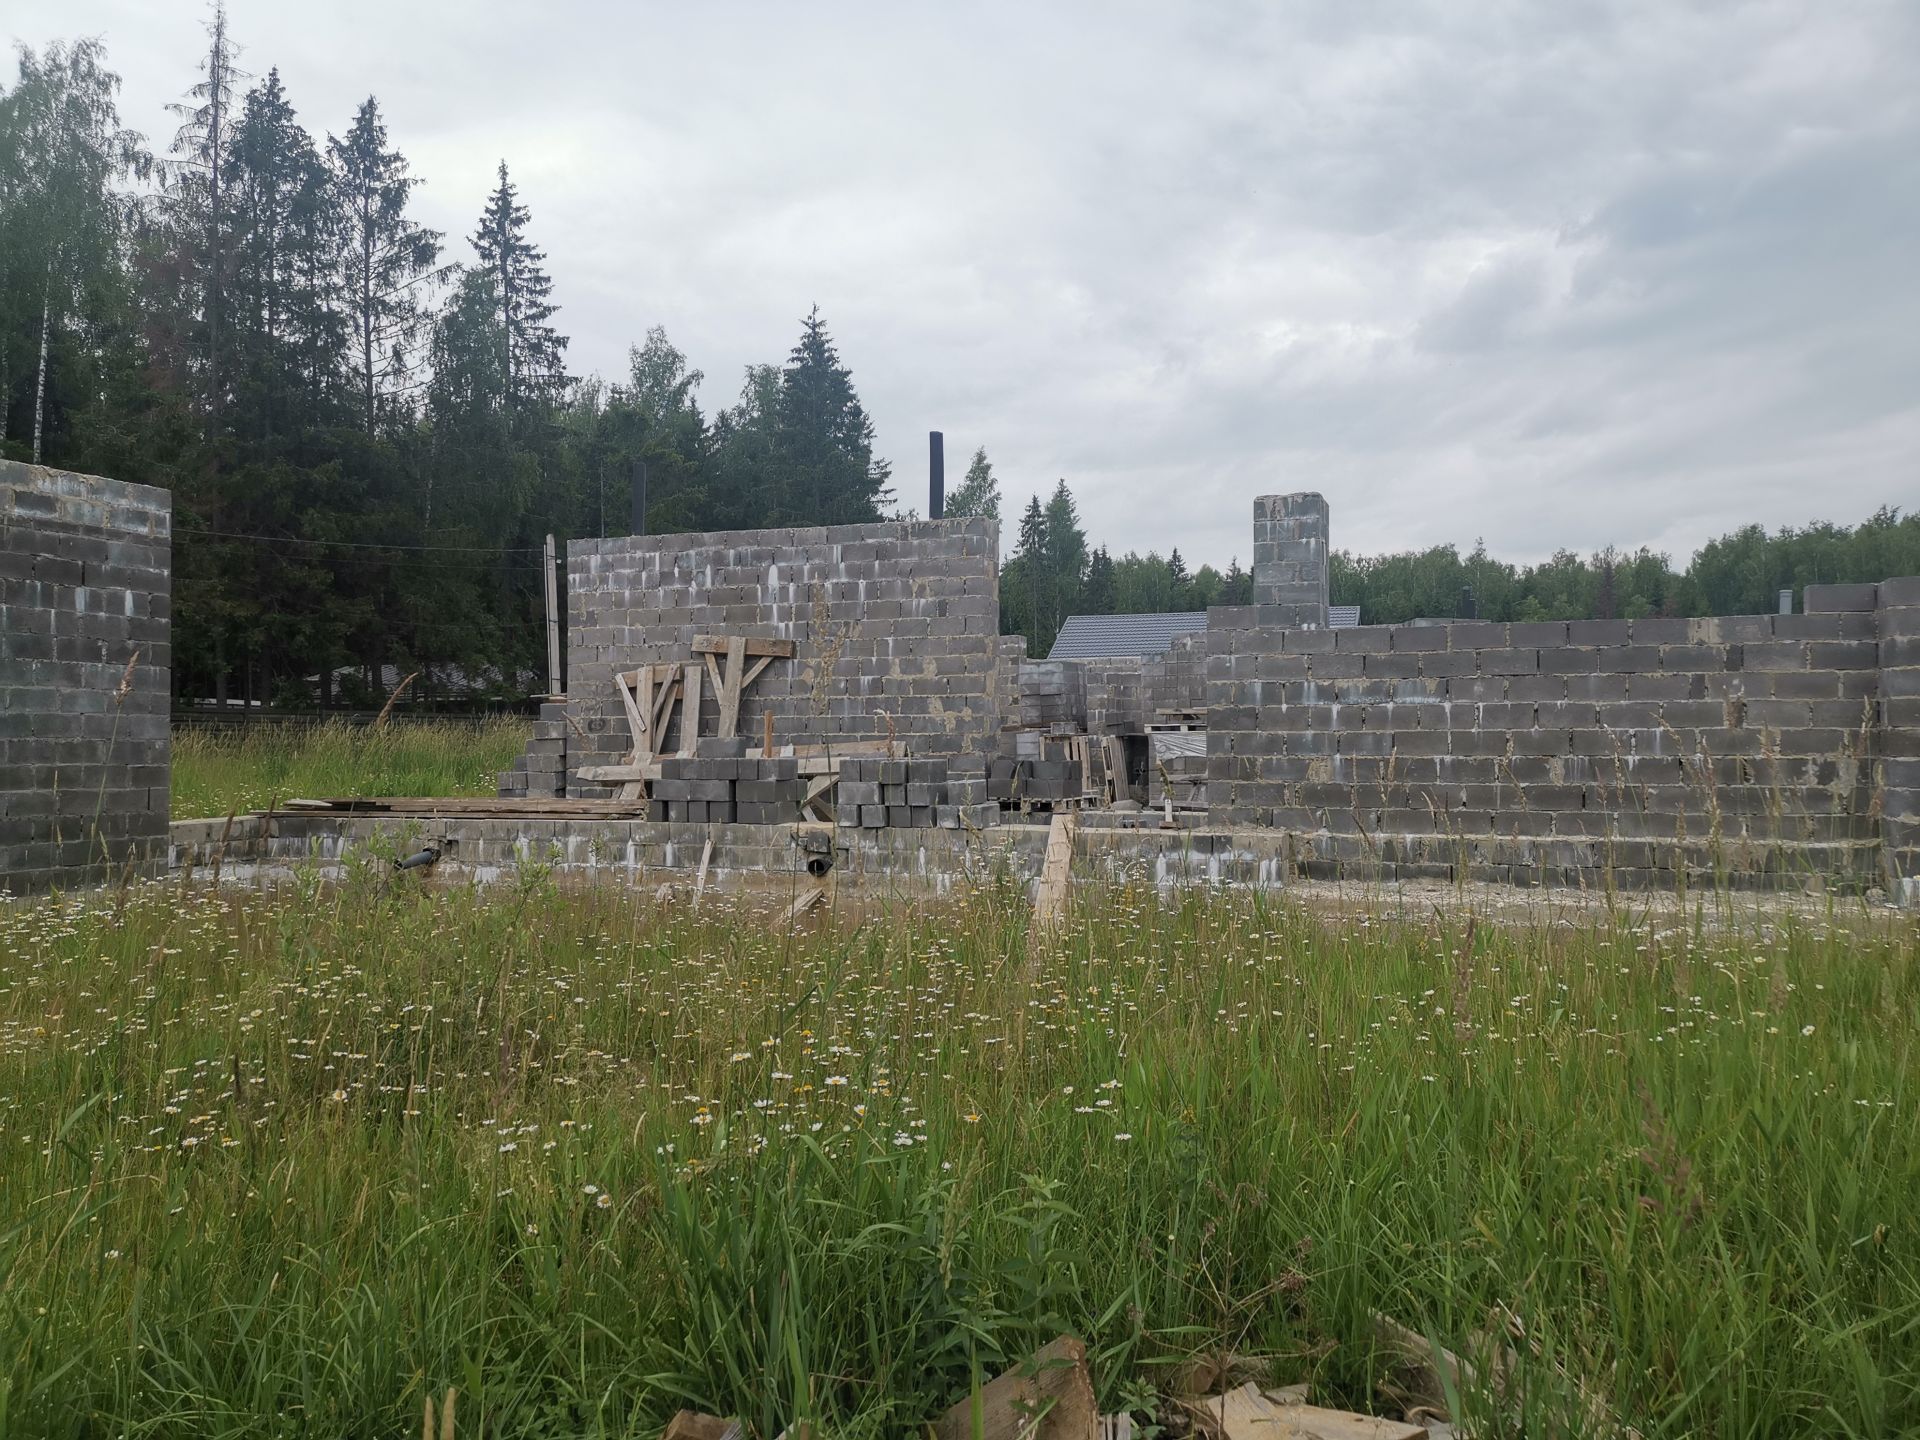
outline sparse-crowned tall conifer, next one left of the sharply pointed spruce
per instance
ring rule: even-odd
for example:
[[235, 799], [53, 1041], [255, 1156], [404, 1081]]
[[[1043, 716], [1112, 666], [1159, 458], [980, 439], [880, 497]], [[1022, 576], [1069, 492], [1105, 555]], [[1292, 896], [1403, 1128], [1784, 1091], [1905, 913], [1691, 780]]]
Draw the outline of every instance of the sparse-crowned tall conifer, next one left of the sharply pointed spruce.
[[[426, 328], [420, 292], [436, 275], [440, 230], [407, 219], [407, 200], [422, 180], [407, 175], [407, 157], [399, 150], [388, 148], [380, 104], [372, 96], [353, 111], [346, 138], [326, 138], [326, 161], [346, 227], [353, 390], [359, 422], [374, 434], [382, 411], [399, 415], [413, 409], [413, 376]], [[536, 323], [551, 313], [549, 307]]]

